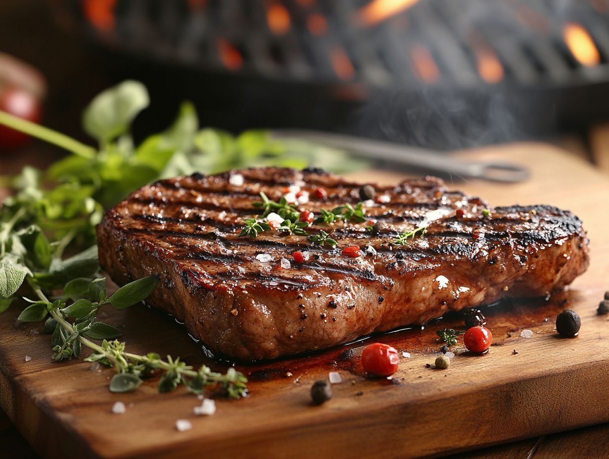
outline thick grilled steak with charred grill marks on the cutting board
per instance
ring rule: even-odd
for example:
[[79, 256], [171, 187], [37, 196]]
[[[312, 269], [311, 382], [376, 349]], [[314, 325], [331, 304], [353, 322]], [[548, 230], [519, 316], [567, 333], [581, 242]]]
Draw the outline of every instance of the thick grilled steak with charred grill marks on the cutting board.
[[[244, 360], [322, 349], [506, 296], [546, 295], [588, 266], [586, 233], [572, 213], [492, 208], [434, 177], [367, 187], [362, 195], [372, 191], [374, 199], [364, 212], [372, 221], [306, 227], [331, 233], [334, 248], [272, 229], [239, 237], [245, 219], [263, 212], [254, 205], [259, 193], [280, 201], [298, 189], [289, 187], [310, 194], [297, 207], [316, 216], [361, 200], [360, 184], [319, 169], [163, 180], [106, 213], [97, 229], [101, 265], [119, 284], [160, 276], [149, 303], [214, 352]], [[424, 235], [395, 243], [424, 226]], [[342, 253], [351, 245], [361, 257]], [[295, 251], [308, 259], [295, 261]]]

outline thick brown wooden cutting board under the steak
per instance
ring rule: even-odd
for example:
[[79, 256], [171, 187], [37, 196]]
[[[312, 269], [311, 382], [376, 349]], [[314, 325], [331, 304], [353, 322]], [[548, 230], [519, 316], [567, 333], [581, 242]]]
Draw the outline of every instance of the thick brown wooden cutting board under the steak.
[[[266, 365], [239, 366], [250, 375], [251, 396], [217, 400], [216, 415], [194, 416], [197, 397], [181, 389], [158, 394], [157, 380], [138, 391], [111, 394], [113, 371], [90, 363], [50, 360], [40, 326], [16, 324], [17, 308], [0, 316], [0, 404], [44, 458], [409, 458], [448, 454], [609, 421], [609, 316], [596, 307], [609, 290], [609, 180], [579, 158], [544, 144], [471, 151], [476, 160], [521, 163], [526, 183], [456, 183], [493, 205], [554, 204], [585, 222], [590, 269], [571, 291], [541, 304], [490, 308], [488, 327], [499, 346], [474, 356], [462, 345], [447, 370], [426, 368], [440, 343], [435, 330], [450, 320], [371, 338], [410, 352], [391, 380], [366, 379], [362, 343]], [[354, 178], [394, 183], [403, 175], [379, 171]], [[559, 338], [555, 313], [573, 308], [582, 317], [577, 338]], [[132, 352], [179, 355], [205, 362], [199, 344], [180, 324], [144, 306], [108, 311]], [[548, 319], [544, 321], [544, 319]], [[521, 338], [523, 329], [533, 338]], [[369, 342], [368, 340], [367, 342]], [[366, 343], [367, 343], [366, 342]], [[364, 344], [366, 344], [364, 343]], [[514, 354], [516, 349], [518, 354]], [[32, 357], [25, 361], [26, 355]], [[320, 407], [310, 404], [312, 382], [338, 371], [343, 382]], [[111, 413], [117, 400], [124, 415]], [[177, 419], [192, 430], [178, 432]]]

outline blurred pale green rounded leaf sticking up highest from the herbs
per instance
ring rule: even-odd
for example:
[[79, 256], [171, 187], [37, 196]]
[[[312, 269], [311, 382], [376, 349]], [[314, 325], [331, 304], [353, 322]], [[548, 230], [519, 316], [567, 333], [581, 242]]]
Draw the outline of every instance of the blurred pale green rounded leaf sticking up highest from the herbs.
[[135, 116], [149, 103], [146, 87], [126, 80], [91, 101], [83, 113], [83, 128], [100, 143], [107, 143], [127, 132]]

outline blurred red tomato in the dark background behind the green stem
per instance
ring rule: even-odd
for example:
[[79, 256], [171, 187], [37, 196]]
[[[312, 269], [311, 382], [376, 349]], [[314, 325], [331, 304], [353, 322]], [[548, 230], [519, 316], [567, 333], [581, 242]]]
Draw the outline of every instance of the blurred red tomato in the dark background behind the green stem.
[[[40, 121], [38, 99], [21, 88], [9, 88], [0, 94], [0, 110], [33, 123]], [[0, 148], [16, 148], [28, 138], [29, 136], [23, 132], [0, 125]]]

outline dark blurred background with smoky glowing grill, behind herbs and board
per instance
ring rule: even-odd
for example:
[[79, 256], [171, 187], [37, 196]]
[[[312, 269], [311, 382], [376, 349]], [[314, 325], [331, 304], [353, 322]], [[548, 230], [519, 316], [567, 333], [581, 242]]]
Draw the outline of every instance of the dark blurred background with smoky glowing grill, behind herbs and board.
[[231, 132], [543, 140], [609, 168], [608, 26], [607, 0], [3, 0], [0, 51], [40, 72], [41, 122], [80, 140], [83, 107], [132, 78], [152, 100], [139, 137], [189, 99]]

